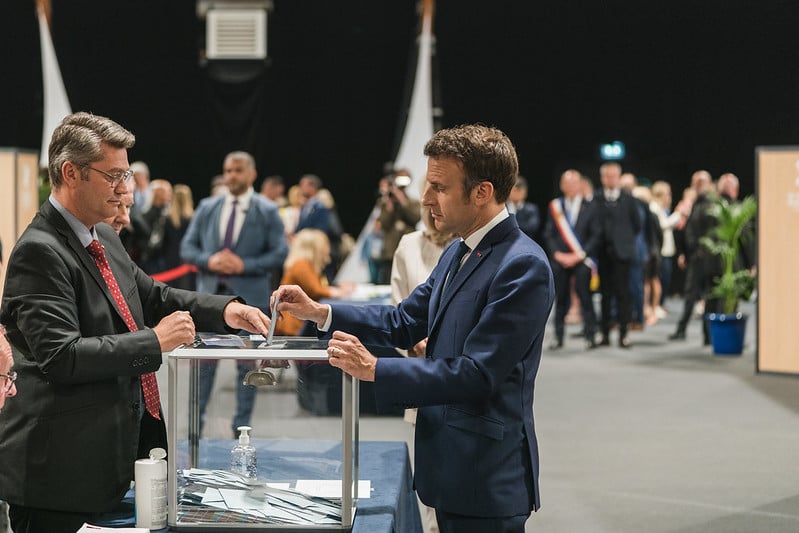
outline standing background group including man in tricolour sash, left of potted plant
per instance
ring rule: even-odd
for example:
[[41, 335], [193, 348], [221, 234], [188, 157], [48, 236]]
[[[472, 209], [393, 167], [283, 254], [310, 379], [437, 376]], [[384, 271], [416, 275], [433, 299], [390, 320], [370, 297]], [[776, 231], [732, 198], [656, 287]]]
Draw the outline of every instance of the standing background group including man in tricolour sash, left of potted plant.
[[[589, 349], [609, 346], [613, 329], [618, 329], [619, 347], [629, 348], [628, 333], [665, 318], [664, 301], [672, 294], [681, 294], [684, 305], [669, 340], [685, 339], [695, 314], [718, 310], [718, 302], [707, 294], [720, 265], [701, 241], [715, 227], [715, 200], [737, 201], [738, 178], [726, 173], [714, 183], [707, 171], [696, 171], [673, 205], [666, 181], [639, 182], [615, 162], [603, 164], [599, 177], [601, 188], [594, 194], [590, 178], [565, 171], [563, 195], [549, 204], [541, 243], [550, 254], [557, 293], [550, 348], [563, 347], [569, 322], [582, 324]], [[742, 250], [740, 262], [754, 268], [752, 243]], [[592, 280], [598, 280], [593, 287]], [[596, 286], [599, 319], [593, 305]], [[703, 324], [704, 343], [709, 344]]]

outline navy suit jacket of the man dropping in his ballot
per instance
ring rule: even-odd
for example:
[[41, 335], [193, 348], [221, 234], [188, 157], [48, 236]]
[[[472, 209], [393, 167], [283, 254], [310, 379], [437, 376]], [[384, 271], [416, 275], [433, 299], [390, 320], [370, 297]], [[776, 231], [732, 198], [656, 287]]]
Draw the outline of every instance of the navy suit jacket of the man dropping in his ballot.
[[533, 389], [554, 298], [546, 254], [509, 217], [441, 290], [457, 242], [396, 308], [333, 305], [329, 331], [427, 357], [381, 358], [378, 406], [419, 407], [415, 485], [424, 503], [470, 516], [539, 506]]

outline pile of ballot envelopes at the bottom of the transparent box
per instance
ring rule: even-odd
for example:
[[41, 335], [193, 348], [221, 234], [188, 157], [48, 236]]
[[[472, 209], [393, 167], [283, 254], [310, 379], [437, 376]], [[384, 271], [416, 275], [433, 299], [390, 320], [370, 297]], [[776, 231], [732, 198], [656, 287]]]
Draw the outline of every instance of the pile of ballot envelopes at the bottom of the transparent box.
[[[226, 470], [192, 468], [179, 472], [178, 486], [179, 522], [341, 524], [338, 480], [300, 480], [291, 488], [290, 483], [258, 483]], [[359, 483], [359, 497], [368, 497], [369, 490], [368, 481]]]

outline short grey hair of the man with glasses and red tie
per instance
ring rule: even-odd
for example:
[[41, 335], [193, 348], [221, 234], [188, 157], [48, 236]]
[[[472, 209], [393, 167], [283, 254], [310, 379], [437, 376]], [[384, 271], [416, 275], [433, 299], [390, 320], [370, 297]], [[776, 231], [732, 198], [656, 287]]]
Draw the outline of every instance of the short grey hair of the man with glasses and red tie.
[[[53, 131], [48, 148], [50, 185], [58, 189], [64, 181], [61, 167], [67, 161], [88, 165], [104, 157], [103, 143], [129, 150], [136, 137], [107, 117], [79, 112], [67, 116]], [[85, 174], [82, 172], [82, 176]]]

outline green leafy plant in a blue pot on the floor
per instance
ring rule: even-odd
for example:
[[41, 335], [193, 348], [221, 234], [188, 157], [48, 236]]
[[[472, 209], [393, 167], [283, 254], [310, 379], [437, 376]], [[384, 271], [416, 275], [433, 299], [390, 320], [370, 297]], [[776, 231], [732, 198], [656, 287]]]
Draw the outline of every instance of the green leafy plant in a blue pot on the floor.
[[753, 271], [740, 262], [741, 246], [754, 239], [757, 202], [747, 196], [742, 202], [716, 200], [710, 210], [716, 219], [711, 234], [701, 239], [721, 263], [721, 275], [713, 280], [709, 293], [721, 301], [721, 313], [709, 313], [710, 338], [717, 355], [740, 355], [743, 352], [747, 316], [738, 312], [738, 304], [748, 300], [755, 289]]

